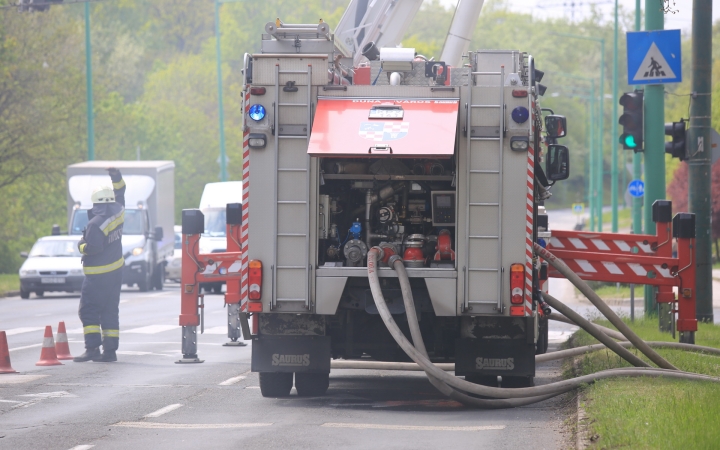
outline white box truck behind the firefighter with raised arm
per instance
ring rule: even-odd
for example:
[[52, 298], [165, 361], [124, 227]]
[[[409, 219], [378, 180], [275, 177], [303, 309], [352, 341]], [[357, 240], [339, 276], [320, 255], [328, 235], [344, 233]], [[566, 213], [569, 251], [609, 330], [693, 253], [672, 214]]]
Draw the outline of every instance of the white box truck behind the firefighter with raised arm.
[[173, 161], [86, 161], [68, 166], [68, 234], [82, 234], [87, 226], [90, 194], [95, 187], [110, 184], [108, 167], [117, 167], [127, 184], [123, 284], [137, 284], [143, 292], [161, 290], [175, 236]]

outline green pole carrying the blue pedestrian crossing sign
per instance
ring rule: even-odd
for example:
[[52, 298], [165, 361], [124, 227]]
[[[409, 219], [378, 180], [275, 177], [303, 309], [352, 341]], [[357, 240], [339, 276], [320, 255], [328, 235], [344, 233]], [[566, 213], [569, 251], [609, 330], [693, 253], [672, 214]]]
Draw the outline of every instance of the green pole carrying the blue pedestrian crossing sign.
[[[662, 2], [645, 0], [645, 30], [665, 28]], [[645, 86], [645, 234], [655, 234], [652, 204], [665, 198], [665, 86]], [[645, 286], [645, 316], [657, 314], [655, 287]], [[664, 305], [670, 305], [664, 303]]]

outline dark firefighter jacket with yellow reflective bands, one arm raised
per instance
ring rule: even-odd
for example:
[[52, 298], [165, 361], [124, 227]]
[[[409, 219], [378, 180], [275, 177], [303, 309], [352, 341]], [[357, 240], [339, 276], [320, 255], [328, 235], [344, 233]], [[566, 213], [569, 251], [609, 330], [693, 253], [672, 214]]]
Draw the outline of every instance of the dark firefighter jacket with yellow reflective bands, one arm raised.
[[85, 275], [99, 275], [120, 270], [125, 265], [122, 254], [122, 230], [125, 222], [125, 180], [113, 180], [115, 203], [96, 203], [78, 250], [83, 255]]

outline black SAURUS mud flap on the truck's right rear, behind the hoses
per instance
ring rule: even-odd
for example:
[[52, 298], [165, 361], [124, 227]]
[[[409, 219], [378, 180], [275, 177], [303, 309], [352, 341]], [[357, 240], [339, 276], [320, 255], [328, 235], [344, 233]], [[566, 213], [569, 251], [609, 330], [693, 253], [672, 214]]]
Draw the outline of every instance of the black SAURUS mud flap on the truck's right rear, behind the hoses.
[[525, 339], [458, 339], [455, 374], [535, 376], [535, 344]]

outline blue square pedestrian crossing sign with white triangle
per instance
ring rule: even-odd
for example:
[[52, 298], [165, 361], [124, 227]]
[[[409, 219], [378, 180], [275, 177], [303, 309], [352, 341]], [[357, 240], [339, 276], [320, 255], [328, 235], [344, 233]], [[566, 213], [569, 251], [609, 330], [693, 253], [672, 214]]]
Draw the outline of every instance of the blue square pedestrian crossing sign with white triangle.
[[628, 84], [682, 81], [680, 30], [627, 33]]

